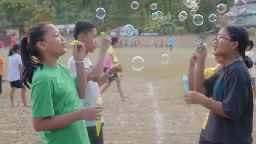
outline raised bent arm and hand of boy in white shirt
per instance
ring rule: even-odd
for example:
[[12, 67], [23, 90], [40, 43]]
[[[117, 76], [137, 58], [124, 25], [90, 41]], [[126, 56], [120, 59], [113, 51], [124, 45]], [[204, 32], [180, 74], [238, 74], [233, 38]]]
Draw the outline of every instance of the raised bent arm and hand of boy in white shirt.
[[104, 67], [104, 61], [106, 59], [107, 48], [111, 44], [110, 37], [102, 37], [101, 49], [99, 51], [99, 56], [97, 63], [91, 69], [85, 69], [87, 80], [98, 82], [102, 75], [102, 70]]

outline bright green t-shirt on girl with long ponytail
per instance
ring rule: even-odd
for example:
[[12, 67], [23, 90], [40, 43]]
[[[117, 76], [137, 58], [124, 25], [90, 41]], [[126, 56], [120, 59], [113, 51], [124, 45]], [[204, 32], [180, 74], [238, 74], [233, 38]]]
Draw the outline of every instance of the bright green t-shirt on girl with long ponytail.
[[[36, 117], [64, 115], [81, 108], [77, 83], [58, 61], [57, 67], [38, 67], [32, 80], [32, 114]], [[42, 144], [90, 144], [85, 120], [64, 128], [41, 131]]]

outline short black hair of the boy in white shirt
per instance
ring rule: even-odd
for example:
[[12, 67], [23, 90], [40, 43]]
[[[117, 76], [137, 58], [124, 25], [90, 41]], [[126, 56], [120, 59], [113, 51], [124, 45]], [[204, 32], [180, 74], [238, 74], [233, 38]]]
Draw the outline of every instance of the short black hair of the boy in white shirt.
[[97, 29], [97, 27], [93, 23], [91, 23], [90, 21], [78, 21], [75, 24], [74, 31], [73, 31], [74, 39], [77, 40], [78, 35], [80, 35], [81, 33], [87, 34], [88, 32], [91, 32], [91, 30], [93, 28]]

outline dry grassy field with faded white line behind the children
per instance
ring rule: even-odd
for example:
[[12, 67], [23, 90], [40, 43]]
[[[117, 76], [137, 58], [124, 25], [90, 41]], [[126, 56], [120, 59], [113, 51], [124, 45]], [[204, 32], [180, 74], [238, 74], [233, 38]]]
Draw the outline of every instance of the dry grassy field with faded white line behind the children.
[[[92, 61], [98, 51], [90, 54]], [[207, 109], [191, 108], [183, 101], [182, 77], [187, 74], [192, 48], [120, 48], [116, 50], [123, 67], [122, 87], [130, 102], [121, 102], [116, 84], [102, 95], [104, 102], [105, 144], [197, 144]], [[211, 53], [212, 50], [209, 50]], [[161, 64], [161, 55], [169, 53], [168, 64]], [[8, 50], [0, 51], [5, 77], [8, 71]], [[61, 57], [67, 64], [71, 51]], [[144, 69], [134, 71], [131, 59], [141, 56]], [[206, 67], [215, 67], [207, 58]], [[32, 124], [31, 108], [22, 107], [20, 91], [15, 93], [17, 107], [11, 108], [9, 83], [3, 83], [0, 98], [0, 144], [38, 144], [40, 134]], [[30, 91], [27, 91], [30, 102]], [[30, 102], [31, 103], [31, 102]], [[256, 123], [256, 120], [253, 120]], [[256, 139], [255, 125], [253, 138]]]

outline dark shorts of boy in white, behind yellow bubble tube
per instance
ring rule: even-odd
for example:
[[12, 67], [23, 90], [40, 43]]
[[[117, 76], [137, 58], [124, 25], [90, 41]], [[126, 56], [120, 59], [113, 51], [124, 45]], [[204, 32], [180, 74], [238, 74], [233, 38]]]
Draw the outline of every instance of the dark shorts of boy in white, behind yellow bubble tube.
[[103, 126], [104, 123], [101, 123], [101, 131], [99, 132], [99, 136], [97, 136], [97, 130], [96, 130], [96, 125], [95, 126], [90, 126], [86, 127], [87, 133], [89, 136], [90, 144], [104, 144], [103, 140]]

